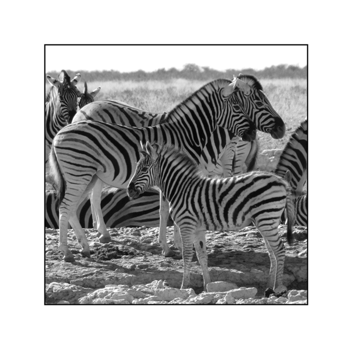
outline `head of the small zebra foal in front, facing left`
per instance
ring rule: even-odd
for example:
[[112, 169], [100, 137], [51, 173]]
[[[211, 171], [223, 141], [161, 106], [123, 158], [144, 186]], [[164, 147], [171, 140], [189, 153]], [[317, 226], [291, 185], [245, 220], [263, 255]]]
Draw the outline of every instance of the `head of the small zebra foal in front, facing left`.
[[156, 186], [155, 161], [158, 154], [149, 142], [144, 146], [141, 142], [141, 158], [137, 162], [134, 175], [128, 184], [127, 195], [130, 199], [137, 199], [152, 186]]

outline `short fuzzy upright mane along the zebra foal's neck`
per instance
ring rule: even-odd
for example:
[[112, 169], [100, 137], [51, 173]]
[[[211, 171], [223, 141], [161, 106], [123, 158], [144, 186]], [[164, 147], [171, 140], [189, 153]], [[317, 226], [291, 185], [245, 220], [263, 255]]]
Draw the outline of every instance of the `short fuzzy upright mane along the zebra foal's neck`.
[[195, 162], [184, 150], [171, 144], [153, 143], [151, 146], [162, 157], [175, 160], [178, 164], [182, 164], [181, 168], [186, 168], [190, 176], [205, 177], [204, 172], [197, 162]]

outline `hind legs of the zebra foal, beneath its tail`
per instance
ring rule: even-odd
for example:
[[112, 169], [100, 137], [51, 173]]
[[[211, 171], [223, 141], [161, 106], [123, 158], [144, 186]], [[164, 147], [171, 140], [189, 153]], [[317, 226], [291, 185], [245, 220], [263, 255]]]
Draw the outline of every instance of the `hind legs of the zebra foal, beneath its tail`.
[[[260, 219], [259, 219], [260, 220]], [[265, 220], [263, 220], [265, 222]], [[268, 287], [278, 292], [286, 289], [283, 285], [284, 263], [285, 263], [285, 246], [278, 233], [279, 222], [272, 226], [260, 223], [257, 226], [264, 242], [267, 246], [271, 261]]]

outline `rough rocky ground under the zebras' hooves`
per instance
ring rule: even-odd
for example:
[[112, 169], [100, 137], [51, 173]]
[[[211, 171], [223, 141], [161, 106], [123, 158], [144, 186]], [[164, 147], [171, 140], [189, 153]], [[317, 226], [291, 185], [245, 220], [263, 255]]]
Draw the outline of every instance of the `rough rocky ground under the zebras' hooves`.
[[[176, 253], [161, 255], [158, 228], [111, 228], [113, 242], [101, 244], [94, 229], [84, 229], [91, 258], [79, 253], [73, 230], [69, 248], [74, 263], [64, 263], [58, 251], [58, 230], [45, 230], [46, 304], [307, 304], [307, 230], [295, 227], [295, 241], [286, 241], [286, 226], [279, 232], [286, 247], [284, 285], [288, 292], [266, 293], [270, 260], [256, 228], [239, 232], [208, 231], [208, 266], [212, 283], [203, 290], [201, 268], [194, 252], [192, 289], [180, 290], [183, 261]], [[266, 295], [265, 295], [266, 293]], [[266, 297], [267, 296], [267, 297]]]

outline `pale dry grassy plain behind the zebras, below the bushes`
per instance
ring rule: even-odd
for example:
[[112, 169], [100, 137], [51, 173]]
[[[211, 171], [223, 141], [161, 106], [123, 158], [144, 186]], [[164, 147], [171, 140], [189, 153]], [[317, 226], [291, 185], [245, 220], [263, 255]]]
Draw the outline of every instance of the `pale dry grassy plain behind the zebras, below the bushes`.
[[[82, 76], [84, 81], [84, 76]], [[209, 81], [171, 79], [167, 81], [89, 81], [88, 91], [101, 86], [96, 97], [98, 100], [119, 100], [150, 112], [169, 111], [185, 100], [202, 85]], [[292, 132], [307, 116], [307, 80], [297, 79], [260, 79], [263, 91], [286, 124], [286, 134], [282, 139], [273, 139], [269, 134], [257, 132], [259, 151], [282, 149]], [[50, 85], [46, 84], [46, 92]], [[83, 91], [83, 82], [77, 85]]]

